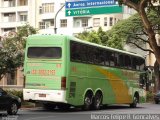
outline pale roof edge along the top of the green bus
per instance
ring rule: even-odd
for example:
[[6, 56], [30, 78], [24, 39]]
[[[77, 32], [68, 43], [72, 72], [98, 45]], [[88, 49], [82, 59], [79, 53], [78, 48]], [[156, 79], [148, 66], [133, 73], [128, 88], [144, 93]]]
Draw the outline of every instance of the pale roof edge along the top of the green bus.
[[69, 35], [62, 35], [62, 34], [34, 34], [34, 35], [30, 35], [29, 38], [31, 38], [31, 39], [35, 38], [35, 37], [40, 37], [41, 38], [42, 36], [44, 36], [44, 37], [46, 36], [46, 37], [68, 38], [67, 40], [72, 40], [72, 41], [84, 43], [84, 44], [87, 44], [87, 45], [93, 45], [93, 46], [96, 46], [96, 47], [100, 47], [100, 48], [104, 48], [104, 49], [107, 49], [107, 50], [111, 50], [111, 51], [115, 51], [115, 52], [119, 52], [119, 53], [132, 55], [132, 56], [136, 56], [136, 57], [141, 57], [141, 58], [144, 59], [143, 56], [141, 56], [139, 54], [136, 54], [136, 53], [127, 52], [127, 51], [124, 51], [124, 50], [119, 50], [119, 49], [111, 48], [111, 47], [108, 47], [108, 46], [99, 45], [99, 44], [96, 44], [96, 43], [91, 43], [91, 42], [88, 42], [88, 41], [85, 41], [85, 40], [81, 40], [81, 39], [78, 39], [78, 38], [76, 38], [74, 36], [69, 36]]

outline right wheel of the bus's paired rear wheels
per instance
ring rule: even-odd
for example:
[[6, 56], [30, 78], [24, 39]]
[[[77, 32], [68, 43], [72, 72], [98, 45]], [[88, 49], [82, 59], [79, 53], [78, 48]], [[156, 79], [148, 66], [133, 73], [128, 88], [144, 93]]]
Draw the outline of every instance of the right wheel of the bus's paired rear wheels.
[[102, 106], [102, 100], [103, 100], [103, 95], [102, 92], [97, 92], [94, 101], [93, 101], [93, 109], [99, 110], [100, 107]]

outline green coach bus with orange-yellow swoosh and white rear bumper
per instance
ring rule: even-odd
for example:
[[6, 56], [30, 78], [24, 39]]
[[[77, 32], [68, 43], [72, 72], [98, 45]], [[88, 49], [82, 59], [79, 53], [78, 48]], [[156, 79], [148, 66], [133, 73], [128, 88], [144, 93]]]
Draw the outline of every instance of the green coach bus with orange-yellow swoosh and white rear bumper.
[[24, 61], [24, 100], [48, 108], [144, 102], [145, 60], [138, 54], [67, 35], [31, 35]]

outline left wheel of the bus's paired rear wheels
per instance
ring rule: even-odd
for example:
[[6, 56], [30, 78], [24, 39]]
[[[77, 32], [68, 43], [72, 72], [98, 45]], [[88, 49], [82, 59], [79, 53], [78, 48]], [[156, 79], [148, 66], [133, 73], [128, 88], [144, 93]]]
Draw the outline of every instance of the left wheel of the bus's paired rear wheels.
[[92, 105], [93, 94], [91, 92], [87, 92], [84, 97], [84, 105], [82, 107], [83, 110], [90, 110]]

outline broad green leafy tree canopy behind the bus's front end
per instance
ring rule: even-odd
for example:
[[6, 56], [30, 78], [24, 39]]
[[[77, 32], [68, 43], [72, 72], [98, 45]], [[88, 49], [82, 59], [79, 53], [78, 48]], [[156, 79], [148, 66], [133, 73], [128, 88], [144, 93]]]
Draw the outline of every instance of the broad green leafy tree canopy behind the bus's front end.
[[[147, 13], [152, 25], [160, 25], [160, 19], [155, 19], [156, 13], [149, 11]], [[156, 30], [156, 27], [154, 28]], [[151, 49], [146, 48], [146, 44], [149, 44], [148, 35], [144, 30], [142, 21], [138, 14], [132, 15], [128, 19], [119, 21], [107, 32], [108, 39], [115, 41], [113, 36], [117, 36], [118, 39], [122, 39], [124, 44], [129, 44], [132, 47], [137, 47], [142, 51], [153, 53]]]

